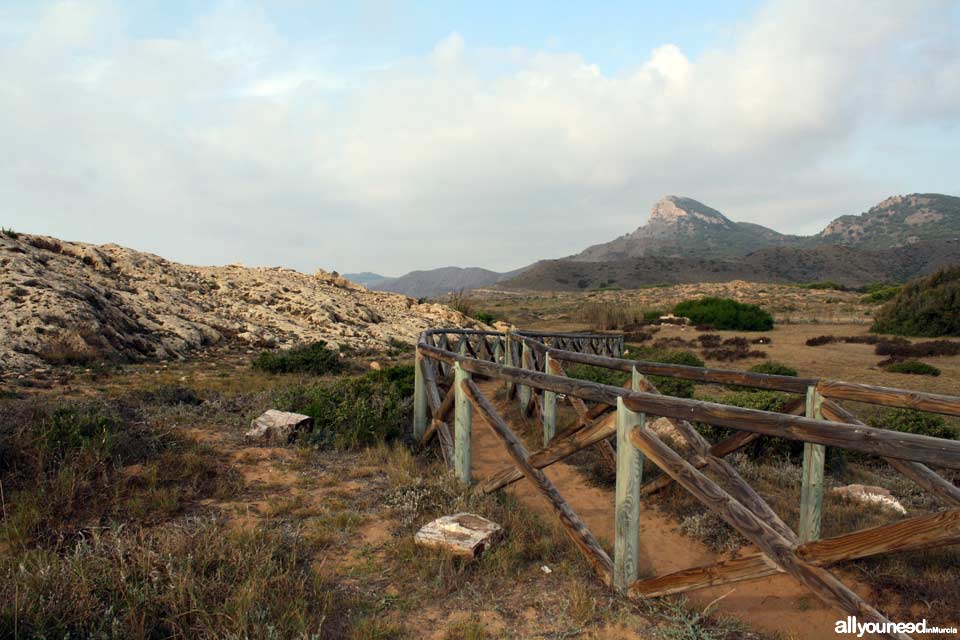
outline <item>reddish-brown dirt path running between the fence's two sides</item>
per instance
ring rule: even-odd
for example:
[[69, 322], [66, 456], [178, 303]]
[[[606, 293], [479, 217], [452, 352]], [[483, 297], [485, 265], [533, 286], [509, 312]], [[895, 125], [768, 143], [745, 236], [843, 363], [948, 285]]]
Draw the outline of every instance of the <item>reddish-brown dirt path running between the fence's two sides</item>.
[[[487, 398], [495, 396], [495, 381], [480, 384]], [[475, 479], [492, 475], [508, 464], [503, 445], [474, 413], [473, 474]], [[583, 519], [595, 536], [613, 540], [614, 495], [593, 486], [572, 466], [562, 462], [545, 469], [547, 477]], [[550, 514], [550, 504], [526, 480], [514, 483], [509, 491], [542, 513]], [[612, 545], [611, 545], [612, 546]], [[750, 550], [749, 548], [745, 551]], [[678, 531], [675, 521], [654, 507], [643, 505], [640, 514], [640, 575], [653, 576], [716, 562], [720, 557], [704, 545]], [[869, 588], [849, 579], [844, 582], [870, 602]], [[702, 589], [689, 594], [691, 601], [706, 606], [717, 598], [719, 611], [739, 618], [758, 630], [779, 632], [797, 640], [822, 640], [834, 636], [834, 624], [845, 614], [822, 604], [804, 587], [785, 575], [771, 576], [722, 587]]]

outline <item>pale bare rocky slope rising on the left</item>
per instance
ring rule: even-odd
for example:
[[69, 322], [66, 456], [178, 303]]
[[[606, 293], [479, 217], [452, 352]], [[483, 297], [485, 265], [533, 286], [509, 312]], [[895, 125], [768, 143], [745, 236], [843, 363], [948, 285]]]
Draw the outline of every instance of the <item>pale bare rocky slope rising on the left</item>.
[[336, 273], [195, 267], [117, 245], [0, 235], [0, 368], [175, 358], [228, 341], [284, 347], [413, 343], [474, 322], [439, 304], [368, 291]]

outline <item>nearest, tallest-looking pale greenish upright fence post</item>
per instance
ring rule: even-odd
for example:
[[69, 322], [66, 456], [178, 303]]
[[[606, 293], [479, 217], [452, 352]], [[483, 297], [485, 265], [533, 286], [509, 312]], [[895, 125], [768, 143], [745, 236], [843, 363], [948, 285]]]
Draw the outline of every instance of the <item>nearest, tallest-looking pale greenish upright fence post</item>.
[[626, 595], [637, 579], [640, 553], [640, 482], [643, 454], [630, 441], [634, 427], [643, 429], [646, 416], [634, 413], [617, 398], [617, 490], [613, 540], [613, 587]]

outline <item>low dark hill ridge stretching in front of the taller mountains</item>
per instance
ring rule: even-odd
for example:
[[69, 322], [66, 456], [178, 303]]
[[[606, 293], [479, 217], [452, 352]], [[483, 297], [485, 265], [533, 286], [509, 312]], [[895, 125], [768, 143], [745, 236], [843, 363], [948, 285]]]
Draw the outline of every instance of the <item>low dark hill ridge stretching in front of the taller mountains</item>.
[[534, 291], [631, 289], [652, 284], [696, 282], [814, 282], [855, 287], [902, 281], [960, 261], [960, 242], [924, 242], [884, 251], [838, 245], [768, 247], [736, 259], [648, 256], [608, 262], [544, 260], [499, 286]]

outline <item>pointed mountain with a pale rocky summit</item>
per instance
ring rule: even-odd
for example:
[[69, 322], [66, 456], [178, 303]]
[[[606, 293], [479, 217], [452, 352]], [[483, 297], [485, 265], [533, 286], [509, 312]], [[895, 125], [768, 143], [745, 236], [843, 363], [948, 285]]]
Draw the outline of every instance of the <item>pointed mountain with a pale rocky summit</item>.
[[611, 242], [571, 256], [578, 262], [604, 262], [644, 256], [725, 258], [763, 247], [796, 243], [798, 236], [749, 222], [734, 222], [692, 198], [667, 196], [653, 205], [646, 224]]

